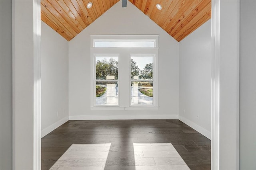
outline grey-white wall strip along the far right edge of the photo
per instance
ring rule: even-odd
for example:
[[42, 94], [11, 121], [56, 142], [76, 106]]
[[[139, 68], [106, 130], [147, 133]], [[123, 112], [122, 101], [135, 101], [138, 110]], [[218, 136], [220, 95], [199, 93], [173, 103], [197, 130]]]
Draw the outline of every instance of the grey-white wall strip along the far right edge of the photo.
[[240, 1], [240, 170], [256, 169], [256, 1]]

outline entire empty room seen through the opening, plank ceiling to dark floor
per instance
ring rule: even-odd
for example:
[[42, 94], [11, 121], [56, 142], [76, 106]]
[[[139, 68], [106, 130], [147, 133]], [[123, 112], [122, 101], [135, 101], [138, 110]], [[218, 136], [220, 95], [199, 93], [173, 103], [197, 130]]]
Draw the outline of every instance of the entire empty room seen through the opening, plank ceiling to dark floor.
[[88, 3], [41, 1], [42, 169], [210, 170], [211, 1]]

